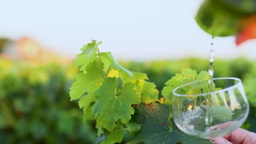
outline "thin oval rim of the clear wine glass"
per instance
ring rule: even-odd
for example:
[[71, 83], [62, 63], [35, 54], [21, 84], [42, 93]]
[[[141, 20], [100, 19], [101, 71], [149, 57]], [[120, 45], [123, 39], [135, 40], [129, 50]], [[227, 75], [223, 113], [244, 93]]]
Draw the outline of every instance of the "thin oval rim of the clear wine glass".
[[[241, 79], [238, 79], [237, 77], [217, 77], [217, 78], [214, 78], [213, 80], [221, 80], [221, 79], [237, 80], [238, 82], [235, 83], [235, 85], [232, 85], [232, 86], [230, 86], [230, 87], [226, 87], [226, 88], [220, 89], [220, 90], [218, 90], [218, 91], [210, 92], [210, 94], [228, 91], [229, 89], [232, 89], [232, 88], [236, 87], [239, 83], [241, 83]], [[208, 80], [201, 80], [201, 81], [208, 81]], [[198, 96], [206, 96], [206, 95], [208, 95], [208, 93], [196, 93], [196, 94], [179, 94], [179, 93], [176, 93], [177, 89], [179, 89], [179, 88], [181, 88], [181, 87], [188, 86], [188, 85], [191, 85], [192, 83], [197, 83], [197, 82], [201, 82], [201, 81], [190, 82], [190, 83], [187, 83], [187, 84], [185, 84], [185, 85], [176, 87], [176, 88], [173, 89], [172, 94], [174, 94], [174, 95], [176, 95], [176, 96], [179, 96], [179, 97], [188, 97], [188, 96], [191, 96], [191, 97], [196, 96], [196, 97], [198, 97]]]

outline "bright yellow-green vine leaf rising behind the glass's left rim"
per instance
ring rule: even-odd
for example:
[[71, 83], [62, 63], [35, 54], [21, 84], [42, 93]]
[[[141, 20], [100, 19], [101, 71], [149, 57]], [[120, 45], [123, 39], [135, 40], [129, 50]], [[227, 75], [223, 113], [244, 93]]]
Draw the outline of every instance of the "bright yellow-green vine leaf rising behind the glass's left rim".
[[[208, 80], [209, 74], [207, 71], [201, 71], [198, 75], [195, 70], [192, 69], [183, 69], [182, 74], [176, 74], [170, 80], [165, 83], [165, 87], [162, 89], [162, 95], [165, 98], [165, 104], [172, 103], [172, 91], [174, 88], [185, 85], [189, 82]], [[196, 86], [196, 85], [193, 85]], [[207, 83], [201, 83], [196, 87], [206, 87]]]

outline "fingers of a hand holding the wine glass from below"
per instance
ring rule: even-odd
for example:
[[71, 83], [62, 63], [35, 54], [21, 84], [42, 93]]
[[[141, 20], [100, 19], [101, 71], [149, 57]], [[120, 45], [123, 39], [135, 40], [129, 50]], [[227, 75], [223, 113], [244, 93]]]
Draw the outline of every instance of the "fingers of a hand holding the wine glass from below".
[[256, 134], [245, 129], [237, 129], [224, 137], [217, 137], [214, 144], [256, 144]]

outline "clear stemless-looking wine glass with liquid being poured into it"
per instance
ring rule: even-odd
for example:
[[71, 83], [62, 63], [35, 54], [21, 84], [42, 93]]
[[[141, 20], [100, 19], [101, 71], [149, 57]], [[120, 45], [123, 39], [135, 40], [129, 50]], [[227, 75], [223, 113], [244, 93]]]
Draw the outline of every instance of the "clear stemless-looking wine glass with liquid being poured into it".
[[184, 133], [200, 139], [225, 136], [241, 127], [249, 113], [249, 104], [240, 79], [213, 79], [191, 82], [173, 90], [172, 116]]

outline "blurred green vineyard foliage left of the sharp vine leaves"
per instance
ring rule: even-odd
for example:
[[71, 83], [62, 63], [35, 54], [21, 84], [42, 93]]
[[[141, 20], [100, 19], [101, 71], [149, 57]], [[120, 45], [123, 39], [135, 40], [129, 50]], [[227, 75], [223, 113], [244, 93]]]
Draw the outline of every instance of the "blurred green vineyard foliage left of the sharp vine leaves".
[[75, 68], [0, 61], [0, 143], [94, 142], [94, 122], [69, 99]]

